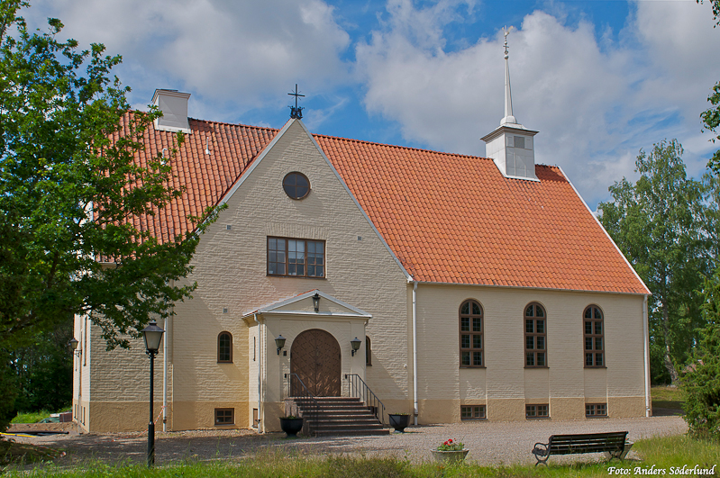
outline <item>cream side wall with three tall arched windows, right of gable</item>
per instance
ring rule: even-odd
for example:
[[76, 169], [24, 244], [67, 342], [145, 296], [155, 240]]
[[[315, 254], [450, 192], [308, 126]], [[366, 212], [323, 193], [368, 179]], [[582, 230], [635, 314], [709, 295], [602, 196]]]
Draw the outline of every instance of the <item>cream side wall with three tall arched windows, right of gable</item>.
[[[459, 366], [459, 309], [468, 299], [483, 306], [486, 368]], [[547, 313], [547, 368], [524, 367], [530, 302]], [[589, 304], [604, 312], [606, 368], [584, 367]], [[525, 404], [584, 419], [586, 402], [607, 403], [609, 417], [644, 416], [643, 296], [419, 284], [417, 311], [421, 423], [457, 421], [460, 404], [486, 404], [491, 420], [524, 419]]]

